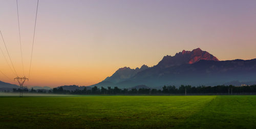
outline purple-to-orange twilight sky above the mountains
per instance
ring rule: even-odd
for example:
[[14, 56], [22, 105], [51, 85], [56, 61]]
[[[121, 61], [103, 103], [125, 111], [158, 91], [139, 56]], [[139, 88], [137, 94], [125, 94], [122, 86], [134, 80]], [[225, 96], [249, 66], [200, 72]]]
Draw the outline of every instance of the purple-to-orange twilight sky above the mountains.
[[[0, 30], [19, 76], [28, 76], [36, 0], [0, 0]], [[39, 0], [25, 86], [91, 85], [121, 67], [154, 66], [201, 48], [219, 60], [256, 58], [256, 1]], [[8, 59], [2, 38], [0, 47]], [[0, 80], [16, 77], [0, 54]], [[9, 64], [10, 60], [8, 59]]]

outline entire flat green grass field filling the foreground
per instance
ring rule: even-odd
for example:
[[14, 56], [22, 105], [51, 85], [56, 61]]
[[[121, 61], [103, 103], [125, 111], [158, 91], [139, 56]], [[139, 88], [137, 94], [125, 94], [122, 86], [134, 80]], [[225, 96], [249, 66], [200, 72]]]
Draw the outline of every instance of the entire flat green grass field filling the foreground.
[[256, 96], [5, 96], [0, 102], [0, 128], [256, 127]]

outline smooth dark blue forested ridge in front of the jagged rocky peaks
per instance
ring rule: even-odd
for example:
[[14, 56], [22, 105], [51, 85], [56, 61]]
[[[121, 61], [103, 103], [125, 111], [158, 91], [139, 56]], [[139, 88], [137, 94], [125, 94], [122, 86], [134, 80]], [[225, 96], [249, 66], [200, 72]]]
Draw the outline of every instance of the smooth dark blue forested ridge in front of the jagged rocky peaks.
[[[252, 60], [200, 60], [193, 64], [183, 64], [164, 69], [153, 67], [136, 74], [129, 81], [131, 85], [145, 84], [148, 87], [161, 85], [190, 84], [218, 85], [233, 80], [255, 81], [256, 59]], [[126, 82], [126, 84], [127, 84]], [[120, 84], [126, 87], [124, 84]]]

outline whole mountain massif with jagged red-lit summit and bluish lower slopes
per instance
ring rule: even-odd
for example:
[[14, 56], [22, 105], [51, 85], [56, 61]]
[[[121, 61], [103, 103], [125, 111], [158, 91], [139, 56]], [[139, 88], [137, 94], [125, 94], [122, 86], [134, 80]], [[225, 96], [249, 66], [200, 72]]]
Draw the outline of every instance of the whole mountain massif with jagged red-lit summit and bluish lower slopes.
[[[256, 59], [219, 59], [200, 48], [193, 51], [164, 56], [154, 67], [143, 65], [140, 69], [120, 68], [111, 77], [94, 84], [98, 87], [131, 88], [146, 85], [155, 88], [163, 85], [190, 84], [217, 85], [233, 81], [256, 81]], [[92, 86], [94, 86], [92, 85]]]

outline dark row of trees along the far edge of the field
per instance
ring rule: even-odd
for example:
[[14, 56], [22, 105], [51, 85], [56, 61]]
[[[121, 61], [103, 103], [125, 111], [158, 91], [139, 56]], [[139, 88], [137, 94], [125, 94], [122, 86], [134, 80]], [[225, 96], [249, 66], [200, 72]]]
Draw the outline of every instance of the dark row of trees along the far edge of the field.
[[174, 85], [164, 85], [161, 90], [157, 89], [119, 89], [118, 87], [98, 88], [94, 86], [91, 89], [84, 88], [83, 90], [69, 91], [62, 87], [54, 88], [52, 93], [55, 94], [256, 94], [256, 85], [234, 87], [233, 85], [217, 85], [214, 87], [191, 87], [191, 85], [181, 85], [179, 88]]

